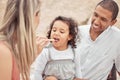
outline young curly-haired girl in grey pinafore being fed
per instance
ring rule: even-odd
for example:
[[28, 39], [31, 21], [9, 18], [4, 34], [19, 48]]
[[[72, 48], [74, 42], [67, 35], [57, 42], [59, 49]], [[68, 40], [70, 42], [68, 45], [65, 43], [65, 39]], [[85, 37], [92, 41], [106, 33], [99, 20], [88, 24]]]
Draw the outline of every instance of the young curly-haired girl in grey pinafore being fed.
[[53, 20], [47, 36], [53, 40], [34, 62], [32, 80], [43, 80], [47, 76], [54, 76], [59, 80], [73, 80], [73, 49], [76, 47], [77, 33], [77, 23], [73, 19], [59, 16]]

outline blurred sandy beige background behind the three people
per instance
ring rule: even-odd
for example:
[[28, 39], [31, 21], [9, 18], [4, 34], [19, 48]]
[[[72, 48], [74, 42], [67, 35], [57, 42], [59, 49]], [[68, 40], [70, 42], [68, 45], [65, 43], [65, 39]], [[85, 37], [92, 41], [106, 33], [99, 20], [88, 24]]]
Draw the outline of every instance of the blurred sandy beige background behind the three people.
[[[0, 22], [7, 0], [0, 0]], [[92, 12], [100, 0], [41, 0], [41, 16], [37, 33], [45, 36], [52, 20], [61, 15], [75, 19], [79, 25], [89, 24]], [[120, 8], [120, 0], [115, 0]], [[120, 12], [115, 24], [120, 28]], [[120, 79], [118, 79], [120, 80]]]

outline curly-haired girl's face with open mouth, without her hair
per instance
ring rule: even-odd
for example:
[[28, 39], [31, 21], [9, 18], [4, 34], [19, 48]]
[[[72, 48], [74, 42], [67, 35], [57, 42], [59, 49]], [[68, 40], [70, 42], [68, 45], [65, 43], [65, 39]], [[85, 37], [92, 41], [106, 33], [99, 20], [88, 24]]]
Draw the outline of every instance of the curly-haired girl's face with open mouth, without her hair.
[[71, 39], [71, 36], [69, 35], [69, 26], [63, 21], [55, 21], [51, 30], [50, 38], [55, 40], [52, 44], [56, 49], [67, 49], [68, 41]]

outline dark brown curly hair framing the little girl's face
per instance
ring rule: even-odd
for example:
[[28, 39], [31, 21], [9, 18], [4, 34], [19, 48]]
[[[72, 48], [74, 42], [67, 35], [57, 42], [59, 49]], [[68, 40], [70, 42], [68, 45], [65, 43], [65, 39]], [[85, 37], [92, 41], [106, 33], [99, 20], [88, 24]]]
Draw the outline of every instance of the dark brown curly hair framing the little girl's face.
[[78, 34], [78, 24], [75, 22], [72, 18], [67, 18], [63, 16], [56, 17], [52, 23], [50, 24], [50, 29], [47, 33], [47, 38], [50, 38], [52, 27], [55, 23], [55, 21], [60, 20], [64, 23], [66, 23], [69, 26], [69, 34], [71, 35], [72, 39], [68, 41], [68, 44], [72, 46], [72, 48], [76, 48], [76, 40], [77, 40], [77, 34]]

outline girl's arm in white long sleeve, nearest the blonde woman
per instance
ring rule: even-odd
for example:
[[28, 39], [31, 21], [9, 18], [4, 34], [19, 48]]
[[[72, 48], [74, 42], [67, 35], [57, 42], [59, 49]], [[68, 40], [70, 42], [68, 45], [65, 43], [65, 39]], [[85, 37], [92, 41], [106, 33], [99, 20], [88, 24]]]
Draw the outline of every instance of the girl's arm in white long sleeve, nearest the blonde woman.
[[39, 56], [36, 58], [35, 62], [33, 62], [31, 66], [31, 74], [30, 74], [31, 80], [43, 80], [42, 74], [48, 60], [49, 60], [49, 52], [48, 49], [45, 48], [39, 54]]

